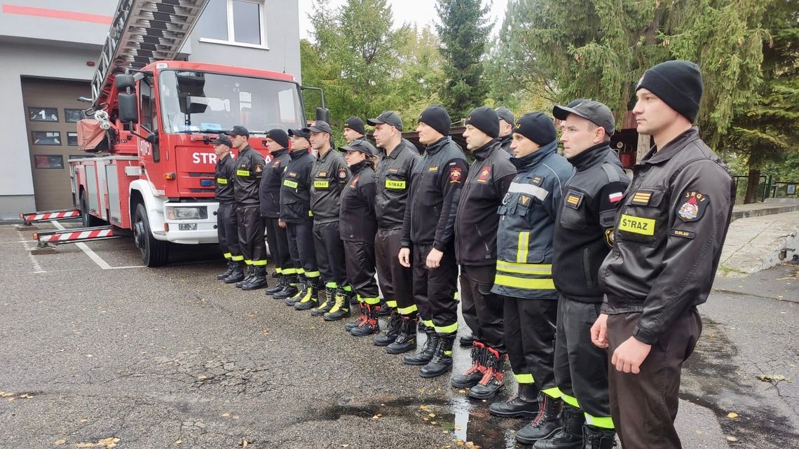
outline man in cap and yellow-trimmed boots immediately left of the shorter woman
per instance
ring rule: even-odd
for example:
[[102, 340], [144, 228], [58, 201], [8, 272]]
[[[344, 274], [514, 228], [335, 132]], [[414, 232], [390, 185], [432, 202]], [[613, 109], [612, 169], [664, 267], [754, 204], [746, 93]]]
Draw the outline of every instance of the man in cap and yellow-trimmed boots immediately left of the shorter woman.
[[[297, 310], [315, 308], [314, 316], [323, 316], [336, 304], [336, 296], [352, 296], [352, 288], [346, 285], [347, 269], [344, 262], [344, 243], [339, 232], [339, 209], [341, 190], [346, 187], [350, 171], [341, 153], [330, 145], [330, 125], [326, 121], [316, 121], [303, 129], [310, 134], [311, 147], [319, 156], [313, 162], [311, 173], [311, 211], [313, 216], [313, 245], [316, 250], [316, 263], [324, 279], [324, 301], [319, 304], [318, 293], [294, 304]], [[309, 279], [312, 288], [321, 289], [320, 278]], [[349, 311], [349, 303], [343, 308]]]

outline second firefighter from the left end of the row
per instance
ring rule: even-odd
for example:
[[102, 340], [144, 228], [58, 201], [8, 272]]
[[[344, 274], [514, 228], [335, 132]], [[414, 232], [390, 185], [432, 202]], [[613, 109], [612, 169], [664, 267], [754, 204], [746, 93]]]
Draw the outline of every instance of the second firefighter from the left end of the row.
[[[260, 221], [260, 177], [264, 173], [264, 157], [248, 143], [249, 132], [244, 126], [233, 126], [228, 133], [233, 147], [238, 149], [236, 176], [233, 177], [236, 197], [236, 219], [239, 224], [239, 246], [249, 275], [236, 283], [242, 290], [264, 288], [266, 284], [266, 241]], [[229, 283], [228, 278], [225, 282]]]

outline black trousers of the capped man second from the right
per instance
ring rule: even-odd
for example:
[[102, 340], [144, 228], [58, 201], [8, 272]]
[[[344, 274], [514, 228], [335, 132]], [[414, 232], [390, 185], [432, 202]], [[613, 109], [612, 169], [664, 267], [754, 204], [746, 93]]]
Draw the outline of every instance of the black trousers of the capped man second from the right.
[[607, 392], [607, 351], [591, 343], [601, 303], [561, 295], [555, 338], [555, 383], [564, 402], [581, 409], [594, 427], [613, 428]]

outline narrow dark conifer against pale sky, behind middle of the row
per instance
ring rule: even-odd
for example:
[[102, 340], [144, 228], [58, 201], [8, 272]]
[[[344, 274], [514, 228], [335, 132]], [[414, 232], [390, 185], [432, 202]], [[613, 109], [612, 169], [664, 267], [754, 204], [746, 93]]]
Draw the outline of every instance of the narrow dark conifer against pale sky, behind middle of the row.
[[436, 2], [441, 24], [436, 24], [435, 29], [447, 62], [441, 99], [453, 121], [483, 105], [488, 93], [482, 58], [491, 32], [491, 24], [485, 18], [489, 7], [482, 6], [482, 0]]

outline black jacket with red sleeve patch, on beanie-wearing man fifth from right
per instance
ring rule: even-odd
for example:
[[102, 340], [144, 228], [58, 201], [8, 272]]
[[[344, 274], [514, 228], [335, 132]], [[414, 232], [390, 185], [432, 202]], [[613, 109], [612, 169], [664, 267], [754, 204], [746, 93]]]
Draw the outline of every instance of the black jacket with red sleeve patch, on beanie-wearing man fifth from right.
[[452, 243], [460, 189], [468, 171], [463, 150], [450, 137], [427, 146], [411, 174], [400, 246], [431, 244], [444, 251]]

